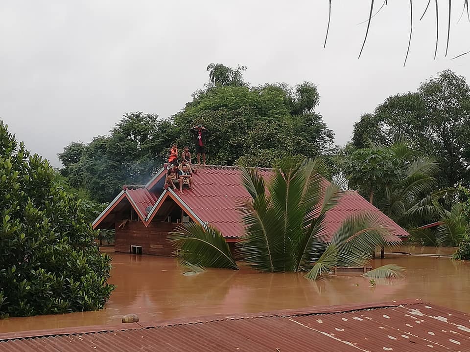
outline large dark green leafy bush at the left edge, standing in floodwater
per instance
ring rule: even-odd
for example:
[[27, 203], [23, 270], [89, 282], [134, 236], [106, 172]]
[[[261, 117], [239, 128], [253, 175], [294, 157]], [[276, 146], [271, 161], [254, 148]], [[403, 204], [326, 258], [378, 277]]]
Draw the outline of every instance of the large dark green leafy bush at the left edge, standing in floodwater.
[[82, 202], [0, 121], [0, 317], [100, 309], [114, 286]]

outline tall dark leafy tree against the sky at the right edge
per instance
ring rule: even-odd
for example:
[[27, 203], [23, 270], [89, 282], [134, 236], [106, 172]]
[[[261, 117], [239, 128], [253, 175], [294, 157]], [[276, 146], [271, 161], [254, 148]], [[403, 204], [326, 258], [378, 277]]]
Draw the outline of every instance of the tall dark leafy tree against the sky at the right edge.
[[352, 141], [390, 145], [404, 137], [438, 161], [441, 187], [470, 179], [470, 87], [465, 77], [450, 70], [421, 84], [416, 92], [389, 97], [374, 114], [354, 125]]

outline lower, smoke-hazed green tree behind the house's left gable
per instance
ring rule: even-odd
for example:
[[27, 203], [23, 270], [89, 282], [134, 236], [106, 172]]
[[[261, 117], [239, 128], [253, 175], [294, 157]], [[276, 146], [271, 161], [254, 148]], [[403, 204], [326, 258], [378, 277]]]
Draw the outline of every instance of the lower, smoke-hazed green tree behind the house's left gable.
[[123, 184], [148, 181], [161, 167], [177, 130], [155, 114], [126, 113], [110, 131], [88, 145], [71, 143], [59, 154], [71, 186], [98, 202], [112, 200]]

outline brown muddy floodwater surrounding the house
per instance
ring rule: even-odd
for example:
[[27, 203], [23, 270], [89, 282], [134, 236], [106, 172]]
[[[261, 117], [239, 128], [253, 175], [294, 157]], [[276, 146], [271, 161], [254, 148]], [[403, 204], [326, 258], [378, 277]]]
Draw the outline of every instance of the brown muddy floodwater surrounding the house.
[[[397, 249], [394, 248], [394, 251]], [[411, 253], [452, 253], [451, 248], [406, 247]], [[114, 254], [110, 282], [117, 285], [105, 308], [94, 312], [10, 318], [0, 332], [84, 325], [119, 324], [124, 314], [141, 321], [217, 313], [258, 312], [308, 306], [376, 303], [408, 298], [470, 313], [470, 264], [447, 258], [389, 256], [373, 266], [399, 264], [406, 278], [371, 287], [362, 277], [332, 277], [311, 282], [295, 273], [211, 269], [185, 276], [174, 258]]]

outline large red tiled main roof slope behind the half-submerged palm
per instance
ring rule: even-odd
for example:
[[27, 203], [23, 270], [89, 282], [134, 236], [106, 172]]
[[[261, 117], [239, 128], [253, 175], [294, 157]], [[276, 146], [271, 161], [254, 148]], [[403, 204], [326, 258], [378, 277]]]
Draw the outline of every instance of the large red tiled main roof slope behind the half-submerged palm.
[[[269, 179], [273, 172], [259, 169], [260, 174]], [[325, 187], [328, 181], [325, 180]], [[194, 176], [194, 189], [185, 190], [180, 198], [204, 222], [215, 226], [226, 238], [237, 238], [243, 233], [243, 224], [238, 214], [238, 204], [250, 196], [241, 184], [241, 172], [237, 168], [207, 167]], [[408, 236], [393, 220], [357, 192], [347, 192], [339, 203], [328, 211], [326, 234], [331, 238], [341, 223], [353, 214], [373, 212], [389, 226], [391, 236], [387, 241], [400, 241], [397, 236]]]

